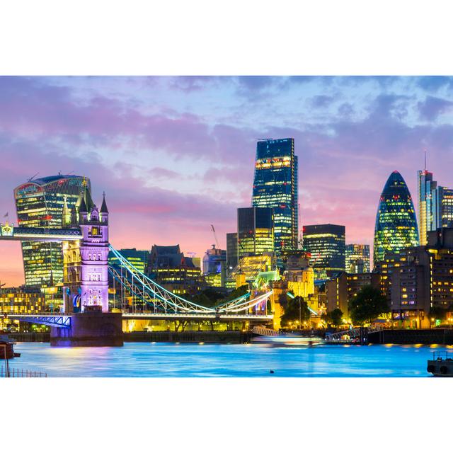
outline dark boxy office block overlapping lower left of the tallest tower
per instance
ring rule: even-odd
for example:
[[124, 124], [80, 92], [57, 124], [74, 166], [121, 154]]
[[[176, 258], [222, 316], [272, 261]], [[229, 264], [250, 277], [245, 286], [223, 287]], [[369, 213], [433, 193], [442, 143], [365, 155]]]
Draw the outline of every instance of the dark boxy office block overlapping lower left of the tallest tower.
[[273, 209], [240, 207], [238, 209], [238, 257], [262, 255], [274, 251]]

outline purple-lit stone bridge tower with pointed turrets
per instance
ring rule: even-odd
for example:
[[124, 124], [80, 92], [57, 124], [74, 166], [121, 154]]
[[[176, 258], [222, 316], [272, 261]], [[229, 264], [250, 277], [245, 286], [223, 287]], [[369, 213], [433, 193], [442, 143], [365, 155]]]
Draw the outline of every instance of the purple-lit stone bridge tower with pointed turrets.
[[[74, 215], [72, 215], [74, 219]], [[105, 194], [101, 210], [89, 209], [84, 197], [79, 206], [78, 243], [64, 243], [64, 311], [108, 312], [108, 209]]]

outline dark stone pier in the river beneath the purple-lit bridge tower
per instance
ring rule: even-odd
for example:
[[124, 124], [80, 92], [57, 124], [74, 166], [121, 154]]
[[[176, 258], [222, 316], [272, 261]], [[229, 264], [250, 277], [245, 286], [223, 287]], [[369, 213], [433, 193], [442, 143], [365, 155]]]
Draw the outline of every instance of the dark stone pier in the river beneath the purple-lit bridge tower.
[[71, 327], [50, 328], [51, 346], [122, 346], [122, 315], [88, 311], [71, 315]]

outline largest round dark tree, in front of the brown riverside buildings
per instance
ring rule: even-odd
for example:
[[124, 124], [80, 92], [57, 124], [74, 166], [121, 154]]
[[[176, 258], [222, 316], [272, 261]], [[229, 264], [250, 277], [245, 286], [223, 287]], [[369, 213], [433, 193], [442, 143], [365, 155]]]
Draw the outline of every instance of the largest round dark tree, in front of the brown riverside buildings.
[[379, 289], [366, 285], [348, 302], [348, 309], [355, 324], [372, 323], [383, 313], [389, 311], [389, 304]]

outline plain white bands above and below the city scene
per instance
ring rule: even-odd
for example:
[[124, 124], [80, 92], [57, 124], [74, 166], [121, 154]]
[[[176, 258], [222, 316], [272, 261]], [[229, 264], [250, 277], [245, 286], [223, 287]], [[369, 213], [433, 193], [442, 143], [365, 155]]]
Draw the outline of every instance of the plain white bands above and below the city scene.
[[[0, 74], [453, 74], [449, 1], [0, 5]], [[451, 408], [435, 378], [2, 379], [0, 451], [448, 450]]]

